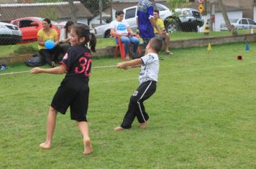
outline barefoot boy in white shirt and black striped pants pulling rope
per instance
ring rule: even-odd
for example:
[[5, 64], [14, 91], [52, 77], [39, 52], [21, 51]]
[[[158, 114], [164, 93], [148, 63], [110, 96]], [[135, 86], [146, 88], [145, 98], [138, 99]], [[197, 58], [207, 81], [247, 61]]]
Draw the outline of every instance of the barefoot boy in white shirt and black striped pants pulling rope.
[[147, 44], [144, 57], [116, 64], [116, 67], [120, 69], [140, 67], [140, 86], [130, 97], [128, 110], [124, 116], [124, 120], [120, 126], [114, 128], [115, 131], [132, 127], [132, 122], [135, 117], [137, 117], [137, 120], [140, 123], [140, 128], [147, 127], [147, 122], [150, 117], [145, 111], [143, 102], [155, 93], [159, 71], [158, 52], [160, 52], [162, 46], [162, 39], [156, 37], [152, 38], [150, 39], [149, 44]]

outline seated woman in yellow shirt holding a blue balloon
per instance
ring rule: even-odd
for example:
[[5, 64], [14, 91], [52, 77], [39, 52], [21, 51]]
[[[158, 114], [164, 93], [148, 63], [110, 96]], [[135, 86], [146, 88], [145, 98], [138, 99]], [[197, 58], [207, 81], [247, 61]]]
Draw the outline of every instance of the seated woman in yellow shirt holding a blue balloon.
[[[50, 19], [45, 18], [42, 20], [42, 29], [37, 32], [37, 42], [39, 53], [45, 59], [45, 62], [51, 67], [56, 67], [58, 56], [60, 54], [60, 46], [58, 45], [58, 32], [51, 27], [52, 24]], [[47, 40], [52, 40], [55, 42], [55, 47], [52, 49], [47, 49], [45, 47], [45, 42]]]

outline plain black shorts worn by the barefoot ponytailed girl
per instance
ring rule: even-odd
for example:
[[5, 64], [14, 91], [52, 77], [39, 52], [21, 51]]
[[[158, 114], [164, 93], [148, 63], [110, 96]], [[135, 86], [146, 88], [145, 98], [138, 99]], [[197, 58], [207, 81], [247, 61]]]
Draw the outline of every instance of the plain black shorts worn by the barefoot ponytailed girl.
[[63, 79], [51, 106], [63, 115], [70, 107], [71, 120], [87, 122], [89, 91], [88, 79]]

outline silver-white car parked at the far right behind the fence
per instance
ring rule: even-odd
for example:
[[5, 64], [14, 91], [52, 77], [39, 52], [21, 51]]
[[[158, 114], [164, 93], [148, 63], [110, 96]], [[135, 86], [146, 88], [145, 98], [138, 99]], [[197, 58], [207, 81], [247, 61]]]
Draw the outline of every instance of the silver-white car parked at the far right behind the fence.
[[[237, 29], [250, 29], [256, 28], [256, 23], [255, 21], [252, 21], [252, 19], [248, 18], [239, 18], [239, 19], [229, 19], [231, 27], [232, 28], [237, 28]], [[227, 26], [226, 24], [221, 24], [221, 31], [227, 31]]]

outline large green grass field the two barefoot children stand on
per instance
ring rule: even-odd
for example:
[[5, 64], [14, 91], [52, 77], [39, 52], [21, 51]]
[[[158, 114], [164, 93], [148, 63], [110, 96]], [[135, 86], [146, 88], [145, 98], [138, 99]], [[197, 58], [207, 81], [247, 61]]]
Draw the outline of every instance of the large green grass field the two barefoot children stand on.
[[[64, 75], [0, 72], [0, 168], [256, 168], [256, 43], [173, 49], [160, 54], [150, 123], [114, 132], [138, 86], [139, 69], [92, 69], [88, 122], [93, 154], [58, 115], [52, 149], [42, 150], [47, 110]], [[237, 55], [242, 55], [241, 61]], [[93, 59], [93, 67], [119, 59]], [[47, 66], [45, 66], [47, 67]]]

